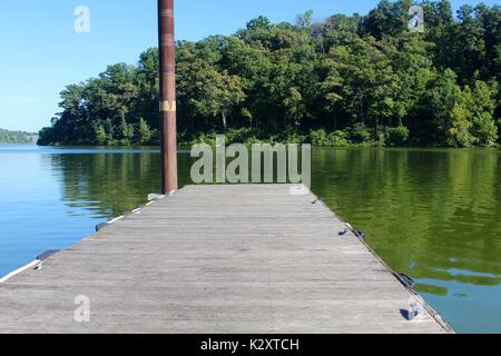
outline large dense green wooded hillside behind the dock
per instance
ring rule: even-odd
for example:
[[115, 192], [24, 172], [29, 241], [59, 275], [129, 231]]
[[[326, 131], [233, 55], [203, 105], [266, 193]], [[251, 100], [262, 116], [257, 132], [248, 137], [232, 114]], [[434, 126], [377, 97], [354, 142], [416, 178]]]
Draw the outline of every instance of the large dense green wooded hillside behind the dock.
[[[424, 9], [424, 32], [409, 9]], [[383, 0], [365, 16], [250, 20], [177, 42], [179, 142], [499, 144], [501, 7]], [[158, 50], [61, 92], [40, 145], [158, 142]]]

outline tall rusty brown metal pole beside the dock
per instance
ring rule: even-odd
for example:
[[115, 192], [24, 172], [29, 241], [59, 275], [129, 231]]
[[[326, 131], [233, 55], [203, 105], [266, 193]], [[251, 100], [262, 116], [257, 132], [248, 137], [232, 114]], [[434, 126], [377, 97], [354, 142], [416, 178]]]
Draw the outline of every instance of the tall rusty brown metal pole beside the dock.
[[160, 53], [161, 192], [170, 194], [177, 190], [174, 0], [158, 0], [158, 44]]

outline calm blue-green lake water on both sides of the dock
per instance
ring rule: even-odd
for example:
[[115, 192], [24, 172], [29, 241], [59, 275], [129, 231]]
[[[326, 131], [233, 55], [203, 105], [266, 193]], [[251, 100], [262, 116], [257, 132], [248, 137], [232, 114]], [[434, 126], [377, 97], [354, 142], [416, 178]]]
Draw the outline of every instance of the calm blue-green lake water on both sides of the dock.
[[[179, 155], [180, 186], [191, 159]], [[501, 333], [501, 151], [314, 149], [313, 191], [460, 333]], [[0, 146], [0, 275], [159, 189], [155, 149]]]

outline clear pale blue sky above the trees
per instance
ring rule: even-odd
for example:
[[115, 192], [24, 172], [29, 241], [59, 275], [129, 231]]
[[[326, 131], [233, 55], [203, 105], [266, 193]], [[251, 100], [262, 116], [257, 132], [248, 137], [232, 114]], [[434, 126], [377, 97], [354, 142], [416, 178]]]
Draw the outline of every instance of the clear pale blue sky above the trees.
[[[480, 1], [453, 0], [462, 3]], [[488, 4], [499, 0], [485, 0]], [[377, 0], [177, 0], [177, 39], [229, 34], [259, 14], [294, 21], [366, 13]], [[90, 9], [90, 32], [73, 31], [77, 6]], [[134, 63], [157, 42], [156, 0], [0, 1], [0, 128], [38, 131], [59, 110], [66, 85], [95, 77], [107, 65]]]

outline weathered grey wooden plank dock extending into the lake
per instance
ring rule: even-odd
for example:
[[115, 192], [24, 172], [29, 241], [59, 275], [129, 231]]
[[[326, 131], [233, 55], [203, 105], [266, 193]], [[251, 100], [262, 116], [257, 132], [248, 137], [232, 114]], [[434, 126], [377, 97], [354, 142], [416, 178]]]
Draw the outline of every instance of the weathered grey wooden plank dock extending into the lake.
[[[0, 284], [0, 333], [451, 333], [312, 194], [188, 186]], [[89, 323], [73, 318], [77, 296]]]

